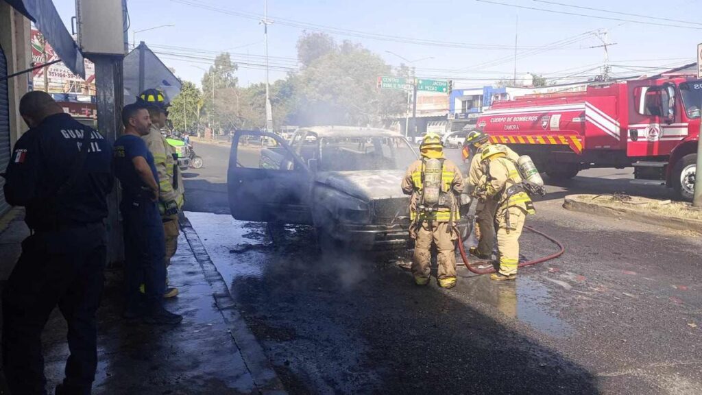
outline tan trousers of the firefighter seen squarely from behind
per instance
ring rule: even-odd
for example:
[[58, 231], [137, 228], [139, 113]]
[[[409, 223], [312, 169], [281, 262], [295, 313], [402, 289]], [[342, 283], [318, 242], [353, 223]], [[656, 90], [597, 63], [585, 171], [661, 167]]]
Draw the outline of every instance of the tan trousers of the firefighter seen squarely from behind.
[[429, 278], [432, 243], [437, 247], [437, 278], [456, 278], [456, 240], [458, 235], [448, 222], [424, 221], [418, 225], [412, 259], [414, 278]]

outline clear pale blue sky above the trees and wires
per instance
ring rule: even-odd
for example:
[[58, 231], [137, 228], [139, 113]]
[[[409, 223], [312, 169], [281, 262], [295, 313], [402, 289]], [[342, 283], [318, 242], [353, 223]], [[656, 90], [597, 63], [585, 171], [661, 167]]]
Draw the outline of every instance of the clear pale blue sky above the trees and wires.
[[[75, 13], [74, 0], [53, 1], [64, 22], [69, 22]], [[586, 11], [534, 0], [494, 1], [607, 18], [683, 25], [680, 22]], [[699, 0], [552, 1], [691, 22], [694, 22], [692, 15], [697, 15], [699, 11]], [[263, 0], [128, 0], [128, 8], [131, 17], [130, 40], [131, 32], [135, 30], [174, 25], [140, 32], [136, 34], [136, 40], [145, 41], [152, 49], [161, 52], [161, 59], [166, 65], [174, 67], [179, 77], [199, 84], [203, 70], [197, 67], [206, 69], [216, 53], [229, 51], [233, 60], [241, 63], [237, 76], [242, 85], [264, 80], [265, 72], [261, 66], [263, 27], [256, 20], [256, 15], [263, 14]], [[206, 8], [217, 8], [219, 11]], [[363, 44], [383, 56], [391, 65], [399, 65], [402, 60], [386, 51], [409, 60], [431, 57], [416, 62], [418, 77], [453, 77], [457, 80], [457, 86], [482, 86], [491, 80], [512, 75], [517, 15], [519, 75], [537, 72], [545, 77], [574, 79], [580, 75], [595, 74], [597, 70], [588, 69], [602, 64], [603, 49], [588, 47], [598, 46], [602, 41], [594, 34], [584, 34], [594, 30], [606, 29], [609, 42], [616, 43], [609, 47], [611, 64], [623, 66], [614, 68], [616, 75], [653, 71], [639, 67], [693, 62], [696, 44], [702, 42], [702, 23], [688, 25], [695, 29], [643, 25], [519, 9], [476, 0], [269, 0], [268, 10], [269, 18], [274, 22], [268, 36], [271, 82], [284, 78], [287, 70], [298, 67], [295, 44], [303, 32], [300, 22], [323, 25], [314, 29], [328, 30], [333, 27], [353, 30], [351, 34], [361, 32], [376, 37], [378, 34], [401, 37], [399, 41], [406, 41], [405, 38], [438, 41], [432, 45], [418, 45], [332, 34], [338, 41], [350, 39]], [[312, 31], [309, 25], [307, 30]], [[540, 48], [559, 40], [563, 41], [555, 49], [545, 51]], [[452, 48], [446, 42], [471, 47]], [[491, 49], [475, 46], [489, 46]], [[525, 53], [527, 51], [533, 54]]]

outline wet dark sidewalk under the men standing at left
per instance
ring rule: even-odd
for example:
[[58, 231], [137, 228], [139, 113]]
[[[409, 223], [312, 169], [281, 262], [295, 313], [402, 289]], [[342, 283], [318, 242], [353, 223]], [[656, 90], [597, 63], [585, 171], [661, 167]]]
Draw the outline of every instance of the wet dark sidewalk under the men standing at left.
[[[28, 233], [22, 212], [0, 227], [0, 287]], [[187, 219], [168, 272], [180, 295], [166, 307], [184, 317], [175, 327], [125, 323], [121, 268], [105, 272], [93, 394], [284, 394]], [[55, 310], [43, 336], [51, 394], [68, 356], [65, 334], [65, 321]]]

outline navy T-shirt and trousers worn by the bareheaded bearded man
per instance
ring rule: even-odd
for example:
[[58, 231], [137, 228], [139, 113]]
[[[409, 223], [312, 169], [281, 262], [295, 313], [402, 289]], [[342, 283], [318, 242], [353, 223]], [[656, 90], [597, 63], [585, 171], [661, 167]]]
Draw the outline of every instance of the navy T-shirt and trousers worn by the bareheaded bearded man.
[[165, 240], [158, 203], [140, 179], [132, 160], [143, 157], [151, 167], [156, 183], [159, 176], [154, 156], [146, 143], [125, 134], [114, 142], [114, 175], [122, 186], [119, 209], [124, 223], [124, 274], [127, 311], [140, 309], [139, 285], [144, 283], [148, 308], [161, 306], [166, 287]]

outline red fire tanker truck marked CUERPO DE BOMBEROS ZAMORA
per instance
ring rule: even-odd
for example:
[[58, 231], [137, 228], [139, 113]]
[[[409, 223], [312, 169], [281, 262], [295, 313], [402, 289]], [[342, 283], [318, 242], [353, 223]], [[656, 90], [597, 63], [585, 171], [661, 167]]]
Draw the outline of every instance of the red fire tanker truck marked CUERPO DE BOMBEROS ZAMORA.
[[477, 124], [552, 179], [633, 166], [633, 182], [667, 185], [691, 200], [701, 104], [702, 80], [673, 76], [496, 102]]

